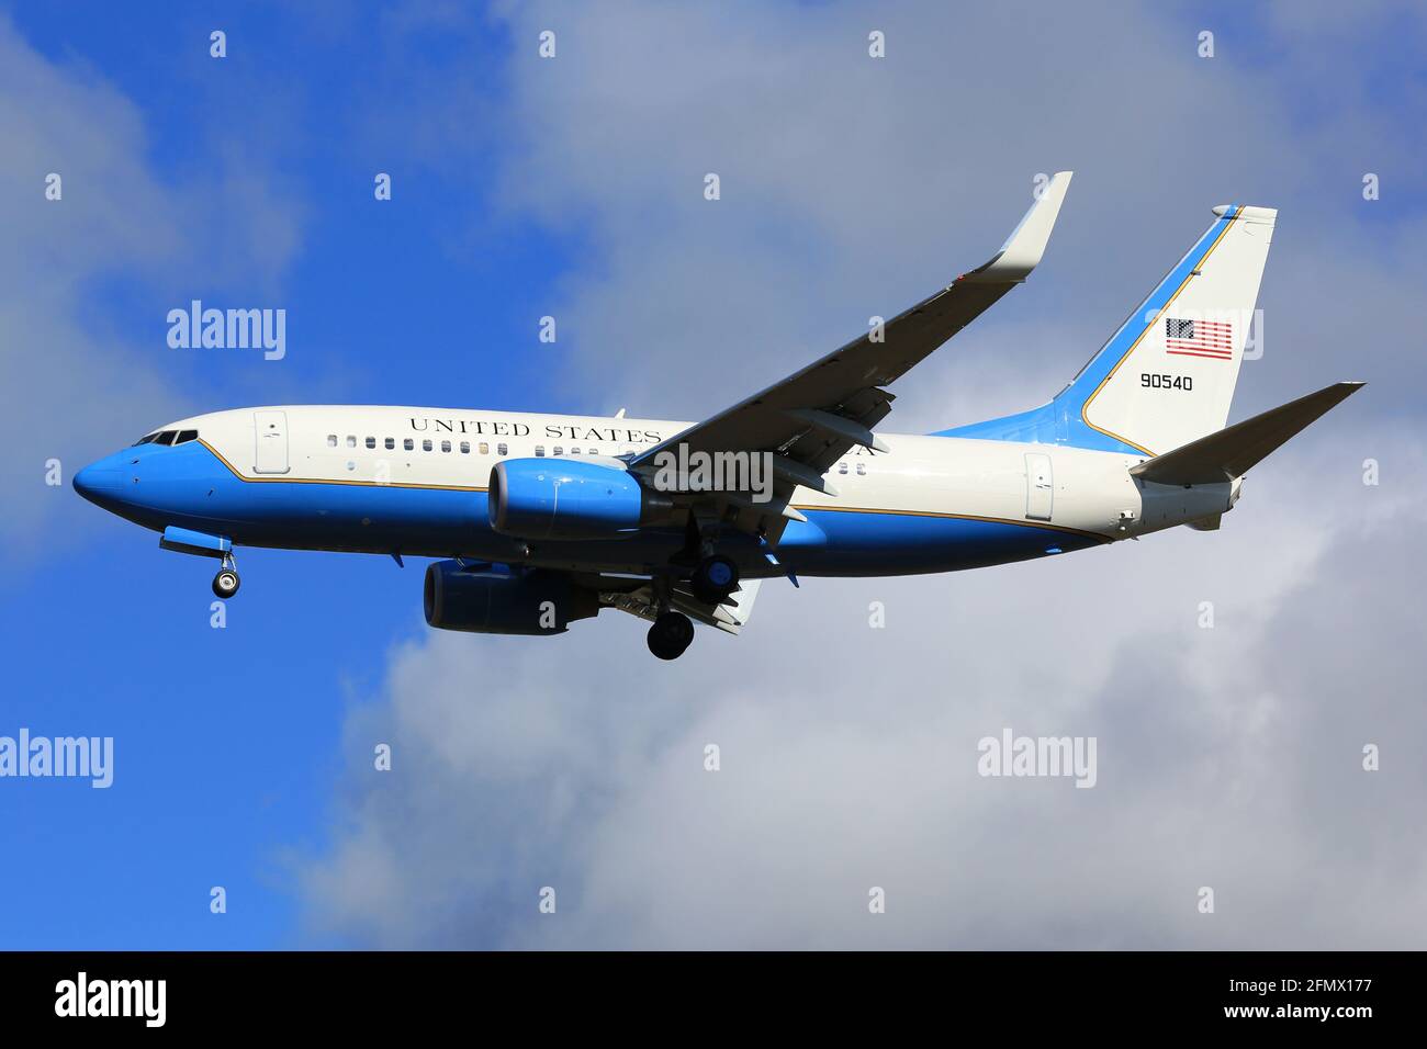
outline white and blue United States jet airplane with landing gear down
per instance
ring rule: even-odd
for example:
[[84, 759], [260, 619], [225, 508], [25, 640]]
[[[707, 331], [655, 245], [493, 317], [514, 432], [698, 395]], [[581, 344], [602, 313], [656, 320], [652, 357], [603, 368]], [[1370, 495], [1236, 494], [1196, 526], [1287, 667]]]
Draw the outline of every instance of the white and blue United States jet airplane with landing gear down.
[[[615, 608], [652, 624], [661, 659], [684, 654], [695, 621], [738, 634], [766, 579], [946, 572], [1217, 529], [1249, 470], [1363, 385], [1226, 427], [1273, 208], [1213, 208], [1046, 404], [933, 434], [873, 430], [889, 384], [1036, 268], [1070, 178], [1042, 188], [990, 261], [704, 422], [241, 408], [160, 427], [74, 488], [164, 549], [218, 559], [218, 598], [238, 592], [237, 547], [438, 558], [422, 587], [434, 628], [562, 634]], [[702, 468], [715, 461], [746, 468]]]

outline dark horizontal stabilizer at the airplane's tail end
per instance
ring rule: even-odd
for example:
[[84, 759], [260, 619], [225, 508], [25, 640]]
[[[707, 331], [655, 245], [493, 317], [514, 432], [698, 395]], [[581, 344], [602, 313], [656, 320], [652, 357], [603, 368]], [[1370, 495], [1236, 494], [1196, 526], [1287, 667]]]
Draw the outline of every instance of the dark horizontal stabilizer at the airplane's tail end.
[[1130, 468], [1130, 475], [1154, 484], [1223, 484], [1243, 477], [1269, 452], [1343, 402], [1361, 382], [1334, 382], [1261, 415], [1236, 422], [1209, 437]]

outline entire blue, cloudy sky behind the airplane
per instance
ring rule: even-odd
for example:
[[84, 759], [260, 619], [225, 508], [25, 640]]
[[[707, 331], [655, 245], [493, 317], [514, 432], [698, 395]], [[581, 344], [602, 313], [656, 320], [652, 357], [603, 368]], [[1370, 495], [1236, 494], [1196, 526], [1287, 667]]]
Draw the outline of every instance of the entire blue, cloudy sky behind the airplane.
[[[107, 789], [0, 779], [0, 948], [1420, 948], [1423, 54], [1387, 1], [0, 4], [0, 736], [114, 741]], [[702, 418], [1059, 170], [880, 428], [1043, 402], [1209, 208], [1277, 207], [1230, 418], [1368, 387], [1217, 532], [769, 582], [661, 664], [612, 611], [432, 632], [361, 555], [240, 551], [214, 628], [208, 561], [68, 487], [243, 405]], [[285, 357], [170, 348], [195, 298]], [[1095, 736], [1095, 788], [980, 776], [1006, 728]]]

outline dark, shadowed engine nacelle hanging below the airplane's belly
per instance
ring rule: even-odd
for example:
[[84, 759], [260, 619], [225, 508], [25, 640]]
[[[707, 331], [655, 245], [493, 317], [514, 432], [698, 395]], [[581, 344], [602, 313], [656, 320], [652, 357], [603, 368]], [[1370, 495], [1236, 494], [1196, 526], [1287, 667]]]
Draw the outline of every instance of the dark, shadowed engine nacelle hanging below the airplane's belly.
[[427, 624], [472, 634], [564, 634], [599, 612], [599, 594], [562, 572], [538, 568], [462, 569], [455, 561], [427, 567]]

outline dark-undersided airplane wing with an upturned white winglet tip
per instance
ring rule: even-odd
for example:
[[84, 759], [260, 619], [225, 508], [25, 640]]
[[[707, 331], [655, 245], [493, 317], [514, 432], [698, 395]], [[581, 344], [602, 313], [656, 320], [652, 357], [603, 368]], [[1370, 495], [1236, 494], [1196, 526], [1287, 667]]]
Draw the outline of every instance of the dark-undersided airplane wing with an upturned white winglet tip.
[[773, 532], [769, 538], [775, 541], [786, 520], [802, 518], [788, 505], [793, 488], [832, 492], [822, 474], [849, 448], [885, 451], [872, 434], [872, 427], [892, 410], [893, 395], [882, 387], [930, 355], [1036, 268], [1070, 174], [1060, 171], [1050, 180], [989, 263], [886, 321], [880, 333], [872, 330], [852, 340], [782, 382], [639, 454], [629, 468], [652, 477], [658, 464], [668, 461], [661, 452], [678, 452], [681, 445], [688, 452], [772, 452], [775, 487], [769, 504], [716, 492], [674, 495], [685, 504], [718, 504], [715, 512], [721, 517], [733, 504], [738, 527]]

